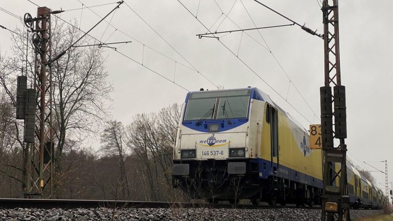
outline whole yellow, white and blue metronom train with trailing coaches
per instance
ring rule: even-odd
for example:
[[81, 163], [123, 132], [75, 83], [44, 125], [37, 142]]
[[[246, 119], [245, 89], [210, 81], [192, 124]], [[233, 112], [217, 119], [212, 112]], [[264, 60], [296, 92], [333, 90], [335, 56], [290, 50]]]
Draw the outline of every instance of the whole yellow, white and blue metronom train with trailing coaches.
[[[309, 131], [256, 87], [189, 92], [173, 148], [172, 185], [210, 203], [313, 206], [321, 203], [321, 160]], [[360, 189], [360, 174], [348, 171], [351, 203], [380, 207], [381, 191]]]

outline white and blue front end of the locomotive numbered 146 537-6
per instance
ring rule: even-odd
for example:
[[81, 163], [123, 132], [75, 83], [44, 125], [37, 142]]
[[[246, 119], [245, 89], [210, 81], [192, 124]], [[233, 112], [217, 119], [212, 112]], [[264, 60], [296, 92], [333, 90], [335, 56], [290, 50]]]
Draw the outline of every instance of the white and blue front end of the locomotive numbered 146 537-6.
[[[214, 200], [236, 198], [233, 187], [250, 183], [245, 177], [251, 178], [246, 174], [253, 158], [251, 94], [252, 89], [187, 94], [173, 152], [174, 188], [192, 198]], [[242, 189], [241, 194], [247, 192]]]

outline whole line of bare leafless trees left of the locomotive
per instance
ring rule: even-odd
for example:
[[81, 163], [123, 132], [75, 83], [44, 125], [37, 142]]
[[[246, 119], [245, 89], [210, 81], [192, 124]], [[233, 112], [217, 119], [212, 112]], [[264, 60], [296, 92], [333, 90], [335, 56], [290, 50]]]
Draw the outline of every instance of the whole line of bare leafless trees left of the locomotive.
[[[52, 17], [52, 57], [83, 33]], [[15, 119], [16, 77], [34, 85], [34, 46], [26, 54], [25, 29], [15, 29], [11, 53], [0, 53], [0, 197], [23, 197], [26, 187], [23, 124]], [[95, 40], [84, 37], [78, 44]], [[178, 104], [157, 113], [141, 113], [123, 125], [112, 120], [104, 51], [71, 48], [52, 63], [54, 198], [164, 200], [171, 191], [173, 144]], [[7, 55], [8, 54], [8, 55]], [[26, 59], [27, 58], [27, 59]], [[27, 64], [27, 67], [26, 67]], [[28, 86], [29, 87], [29, 86]], [[89, 142], [99, 139], [100, 147]], [[37, 142], [37, 139], [36, 139]]]

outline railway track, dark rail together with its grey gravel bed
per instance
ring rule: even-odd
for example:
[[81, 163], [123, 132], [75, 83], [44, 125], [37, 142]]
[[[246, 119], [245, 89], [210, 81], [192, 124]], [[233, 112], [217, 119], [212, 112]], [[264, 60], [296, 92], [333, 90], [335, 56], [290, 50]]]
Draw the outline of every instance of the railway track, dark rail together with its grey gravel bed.
[[[359, 218], [380, 213], [352, 210]], [[0, 198], [0, 220], [320, 220], [320, 207]]]

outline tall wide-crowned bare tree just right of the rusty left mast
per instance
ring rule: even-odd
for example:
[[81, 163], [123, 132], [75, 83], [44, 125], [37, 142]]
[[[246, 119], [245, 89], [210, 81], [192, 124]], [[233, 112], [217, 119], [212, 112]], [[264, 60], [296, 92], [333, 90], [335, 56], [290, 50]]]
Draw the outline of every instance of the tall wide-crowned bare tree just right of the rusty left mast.
[[[52, 30], [53, 53], [56, 55], [71, 45], [81, 32], [55, 20]], [[83, 45], [92, 39], [84, 38]], [[57, 46], [57, 47], [56, 47]], [[107, 117], [104, 103], [110, 100], [112, 86], [106, 82], [105, 59], [102, 50], [96, 47], [71, 48], [53, 64], [55, 83], [55, 132], [57, 142], [56, 162], [61, 161], [64, 142], [67, 136], [80, 132], [98, 132], [94, 127]], [[56, 171], [61, 171], [56, 164]]]

